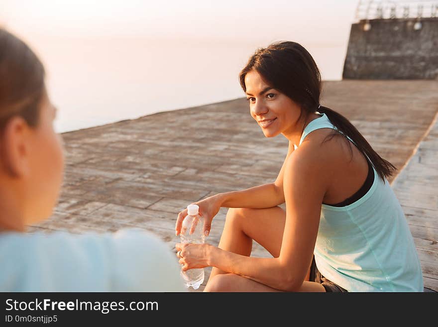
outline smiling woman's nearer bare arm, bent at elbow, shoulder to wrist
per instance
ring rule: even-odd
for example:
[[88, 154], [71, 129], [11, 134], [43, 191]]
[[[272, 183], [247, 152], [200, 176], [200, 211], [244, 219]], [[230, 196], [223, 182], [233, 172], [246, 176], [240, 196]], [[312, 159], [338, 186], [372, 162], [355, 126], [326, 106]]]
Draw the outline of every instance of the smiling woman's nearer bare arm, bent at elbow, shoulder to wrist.
[[210, 246], [209, 265], [279, 290], [295, 291], [303, 284], [318, 234], [321, 204], [329, 185], [329, 174], [321, 170], [328, 154], [319, 145], [318, 149], [311, 147], [303, 143], [296, 155], [286, 161], [287, 210], [279, 257], [247, 257]]

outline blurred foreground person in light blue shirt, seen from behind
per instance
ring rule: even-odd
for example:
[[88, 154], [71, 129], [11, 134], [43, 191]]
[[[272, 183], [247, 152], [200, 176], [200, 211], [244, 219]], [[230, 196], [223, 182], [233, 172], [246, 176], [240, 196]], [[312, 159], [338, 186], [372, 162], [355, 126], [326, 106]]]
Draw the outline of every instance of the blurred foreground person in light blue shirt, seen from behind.
[[51, 216], [64, 168], [44, 75], [0, 28], [0, 291], [184, 291], [170, 249], [143, 230], [24, 232]]

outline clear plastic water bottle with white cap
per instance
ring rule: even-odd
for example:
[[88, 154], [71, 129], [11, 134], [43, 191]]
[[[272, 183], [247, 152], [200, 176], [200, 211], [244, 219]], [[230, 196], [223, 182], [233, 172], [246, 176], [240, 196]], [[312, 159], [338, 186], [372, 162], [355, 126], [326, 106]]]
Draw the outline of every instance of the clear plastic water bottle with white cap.
[[[197, 243], [205, 242], [203, 233], [204, 218], [199, 216], [199, 206], [189, 205], [187, 207], [187, 216], [183, 220], [181, 227], [181, 243]], [[192, 286], [195, 290], [204, 282], [204, 268], [181, 270], [181, 276], [187, 288]]]

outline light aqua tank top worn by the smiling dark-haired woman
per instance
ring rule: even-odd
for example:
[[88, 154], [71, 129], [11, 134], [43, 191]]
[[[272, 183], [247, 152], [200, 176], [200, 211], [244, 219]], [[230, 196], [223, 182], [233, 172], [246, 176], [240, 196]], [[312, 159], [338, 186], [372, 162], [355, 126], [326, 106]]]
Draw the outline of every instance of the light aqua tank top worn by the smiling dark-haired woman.
[[[316, 129], [337, 130], [325, 113], [320, 115], [306, 126], [300, 144]], [[362, 198], [345, 207], [322, 205], [314, 255], [321, 274], [349, 292], [423, 292], [405, 215], [389, 182], [375, 169]]]

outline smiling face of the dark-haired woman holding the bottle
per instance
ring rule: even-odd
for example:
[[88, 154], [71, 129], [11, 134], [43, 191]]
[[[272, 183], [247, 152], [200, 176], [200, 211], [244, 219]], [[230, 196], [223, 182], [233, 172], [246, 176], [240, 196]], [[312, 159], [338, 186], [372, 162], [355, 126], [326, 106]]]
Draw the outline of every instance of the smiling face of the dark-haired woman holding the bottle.
[[301, 108], [292, 99], [266, 84], [255, 70], [246, 74], [245, 86], [251, 116], [266, 137], [282, 133], [290, 139], [297, 134]]

